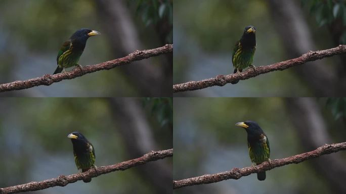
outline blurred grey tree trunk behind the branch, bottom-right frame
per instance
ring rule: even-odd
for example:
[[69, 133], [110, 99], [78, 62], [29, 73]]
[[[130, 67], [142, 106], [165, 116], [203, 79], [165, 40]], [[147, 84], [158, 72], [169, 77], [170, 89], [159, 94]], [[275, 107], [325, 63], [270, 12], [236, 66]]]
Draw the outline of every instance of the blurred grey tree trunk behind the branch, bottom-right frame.
[[[322, 143], [331, 142], [327, 124], [322, 116], [320, 106], [315, 99], [289, 98], [285, 100], [289, 118], [298, 133], [297, 137], [302, 148], [312, 150]], [[302, 124], [304, 123], [304, 124]], [[344, 179], [346, 177], [346, 166], [344, 159], [339, 154], [322, 157], [311, 162], [315, 172], [325, 179], [335, 193], [346, 193]], [[328, 168], [326, 168], [328, 164]]]

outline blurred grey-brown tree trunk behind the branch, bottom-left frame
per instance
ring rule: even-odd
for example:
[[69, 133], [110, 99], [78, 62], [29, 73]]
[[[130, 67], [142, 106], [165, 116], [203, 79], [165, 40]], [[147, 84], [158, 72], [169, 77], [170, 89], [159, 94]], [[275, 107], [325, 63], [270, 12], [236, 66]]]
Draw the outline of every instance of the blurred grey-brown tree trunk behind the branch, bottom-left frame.
[[[117, 120], [117, 130], [124, 139], [126, 152], [129, 157], [142, 155], [150, 150], [156, 150], [157, 144], [154, 134], [148, 123], [143, 105], [136, 99], [110, 99], [112, 114]], [[168, 131], [167, 131], [168, 132]], [[158, 162], [155, 165], [146, 165], [138, 168], [139, 176], [143, 176], [148, 184], [156, 190], [155, 193], [170, 193], [172, 168], [166, 163]]]

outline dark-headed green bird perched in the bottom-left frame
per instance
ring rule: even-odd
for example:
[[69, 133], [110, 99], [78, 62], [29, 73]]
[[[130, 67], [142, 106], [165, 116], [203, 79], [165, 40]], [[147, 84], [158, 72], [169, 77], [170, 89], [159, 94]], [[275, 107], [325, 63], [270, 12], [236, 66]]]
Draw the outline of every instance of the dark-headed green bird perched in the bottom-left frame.
[[[97, 173], [97, 167], [94, 165], [95, 149], [93, 144], [79, 132], [72, 132], [67, 135], [67, 137], [72, 141], [74, 162], [76, 163], [78, 171], [81, 170], [81, 172], [86, 172], [93, 167]], [[83, 182], [90, 181], [91, 178], [83, 179]]]

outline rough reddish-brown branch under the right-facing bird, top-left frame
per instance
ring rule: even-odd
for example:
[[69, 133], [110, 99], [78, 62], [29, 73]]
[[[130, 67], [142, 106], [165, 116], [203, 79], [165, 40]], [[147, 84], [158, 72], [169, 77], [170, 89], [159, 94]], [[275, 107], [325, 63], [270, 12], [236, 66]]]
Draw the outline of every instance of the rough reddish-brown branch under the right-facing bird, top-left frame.
[[93, 73], [100, 70], [109, 70], [121, 65], [132, 63], [134, 61], [140, 61], [143, 59], [148, 59], [150, 57], [155, 57], [158, 55], [171, 53], [171, 52], [173, 52], [173, 44], [166, 44], [162, 47], [158, 47], [156, 49], [151, 49], [151, 50], [135, 51], [134, 53], [131, 53], [123, 58], [99, 63], [96, 65], [85, 66], [83, 67], [82, 71], [80, 70], [80, 68], [74, 68], [72, 71], [66, 72], [66, 74], [65, 73], [58, 73], [55, 75], [46, 74], [42, 77], [32, 78], [26, 81], [14, 81], [11, 83], [0, 84], [0, 92], [27, 89], [27, 88], [39, 86], [39, 85], [51, 85], [52, 83], [59, 82], [64, 79], [73, 79], [88, 73]]

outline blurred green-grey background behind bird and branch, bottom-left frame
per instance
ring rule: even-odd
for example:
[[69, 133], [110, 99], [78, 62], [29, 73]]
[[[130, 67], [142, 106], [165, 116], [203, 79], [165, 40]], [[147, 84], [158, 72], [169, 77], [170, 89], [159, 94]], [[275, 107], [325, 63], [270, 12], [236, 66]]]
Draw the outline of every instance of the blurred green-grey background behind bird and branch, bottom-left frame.
[[[67, 135], [93, 143], [96, 166], [172, 148], [172, 100], [5, 98], [0, 102], [0, 187], [77, 173]], [[30, 193], [170, 193], [172, 158]]]

